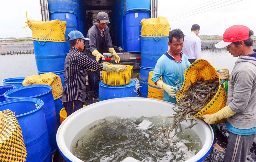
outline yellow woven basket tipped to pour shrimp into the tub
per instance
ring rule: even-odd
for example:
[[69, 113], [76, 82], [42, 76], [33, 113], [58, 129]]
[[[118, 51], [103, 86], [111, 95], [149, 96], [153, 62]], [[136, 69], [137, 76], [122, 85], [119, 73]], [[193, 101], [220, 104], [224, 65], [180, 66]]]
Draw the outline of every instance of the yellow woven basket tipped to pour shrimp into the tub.
[[[184, 73], [184, 82], [181, 87], [181, 90], [178, 91], [176, 98], [177, 102], [179, 102], [179, 99], [182, 98], [185, 91], [188, 89], [190, 85], [190, 81], [193, 83], [196, 83], [198, 80], [211, 80], [216, 79], [218, 77], [217, 68], [211, 63], [209, 63], [207, 60], [198, 59], [196, 60], [192, 65], [190, 65], [186, 72]], [[219, 82], [221, 80], [219, 79]], [[204, 107], [200, 112], [196, 113], [194, 116], [200, 117], [202, 119], [202, 116], [205, 114], [214, 114], [218, 112], [220, 109], [225, 107], [225, 104], [227, 102], [227, 94], [225, 92], [224, 85], [220, 85], [218, 88], [217, 93], [213, 97], [213, 99], [207, 104], [206, 107]], [[215, 122], [217, 123], [223, 123], [226, 119], [218, 120]]]

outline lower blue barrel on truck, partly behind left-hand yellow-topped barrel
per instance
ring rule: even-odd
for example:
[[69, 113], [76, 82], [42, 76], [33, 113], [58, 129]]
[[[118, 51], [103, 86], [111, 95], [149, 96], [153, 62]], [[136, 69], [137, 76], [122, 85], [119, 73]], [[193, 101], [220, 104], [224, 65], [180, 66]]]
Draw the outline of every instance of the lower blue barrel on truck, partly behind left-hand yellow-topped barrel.
[[[68, 14], [68, 19], [66, 17], [66, 14]], [[78, 21], [76, 18], [75, 13], [70, 13], [70, 12], [51, 12], [50, 13], [50, 20], [60, 20], [60, 21], [66, 21], [67, 22], [67, 27], [66, 27], [66, 46], [65, 46], [65, 53], [68, 53], [69, 51], [69, 42], [68, 42], [68, 34], [71, 31], [77, 31], [78, 30]]]

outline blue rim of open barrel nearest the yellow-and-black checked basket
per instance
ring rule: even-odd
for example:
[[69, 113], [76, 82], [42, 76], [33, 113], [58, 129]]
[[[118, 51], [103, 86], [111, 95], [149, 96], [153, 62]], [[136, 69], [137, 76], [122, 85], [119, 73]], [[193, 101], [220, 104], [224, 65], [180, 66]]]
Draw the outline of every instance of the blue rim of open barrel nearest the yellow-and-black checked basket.
[[10, 103], [19, 103], [19, 102], [33, 102], [34, 104], [38, 104], [38, 108], [30, 111], [30, 112], [27, 112], [27, 113], [24, 113], [24, 114], [20, 114], [20, 115], [15, 115], [16, 118], [18, 119], [19, 117], [22, 117], [22, 116], [25, 116], [25, 115], [29, 115], [29, 114], [32, 114], [36, 111], [39, 111], [41, 108], [43, 108], [43, 101], [40, 100], [40, 99], [34, 99], [34, 98], [22, 98], [22, 99], [15, 99], [15, 100], [9, 100], [9, 101], [3, 101], [3, 102], [0, 102], [0, 111], [2, 111], [1, 107], [2, 106], [6, 106]]

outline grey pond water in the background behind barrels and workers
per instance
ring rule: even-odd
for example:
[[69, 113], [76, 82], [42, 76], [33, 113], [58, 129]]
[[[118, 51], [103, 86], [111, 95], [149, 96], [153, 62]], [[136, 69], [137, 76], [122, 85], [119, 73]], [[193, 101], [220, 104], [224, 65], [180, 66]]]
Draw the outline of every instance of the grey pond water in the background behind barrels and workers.
[[[230, 73], [238, 59], [225, 49], [202, 49], [201, 57], [219, 69], [228, 68]], [[2, 86], [3, 79], [37, 75], [34, 54], [0, 55], [0, 69], [0, 86]]]

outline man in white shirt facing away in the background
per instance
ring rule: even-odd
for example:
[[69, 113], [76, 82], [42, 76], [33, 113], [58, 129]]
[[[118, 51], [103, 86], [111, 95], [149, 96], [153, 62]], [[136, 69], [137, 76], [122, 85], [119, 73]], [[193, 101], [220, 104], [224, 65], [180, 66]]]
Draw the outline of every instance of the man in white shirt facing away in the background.
[[188, 58], [192, 64], [195, 60], [201, 59], [201, 41], [197, 36], [200, 33], [200, 26], [192, 25], [191, 32], [184, 38], [182, 53]]

